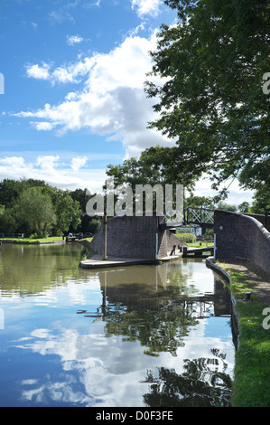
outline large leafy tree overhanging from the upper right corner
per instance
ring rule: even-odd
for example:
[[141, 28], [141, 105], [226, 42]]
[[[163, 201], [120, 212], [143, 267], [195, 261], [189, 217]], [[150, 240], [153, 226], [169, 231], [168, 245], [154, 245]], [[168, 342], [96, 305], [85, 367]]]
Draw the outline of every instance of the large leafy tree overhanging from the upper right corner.
[[[270, 70], [269, 5], [165, 3], [177, 9], [179, 19], [161, 28], [145, 91], [157, 100], [157, 119], [149, 127], [176, 140], [167, 161], [172, 168], [181, 163], [187, 175], [207, 173], [216, 189], [238, 178], [252, 189], [265, 184], [269, 193], [269, 99], [263, 92]], [[154, 83], [153, 76], [164, 82]]]

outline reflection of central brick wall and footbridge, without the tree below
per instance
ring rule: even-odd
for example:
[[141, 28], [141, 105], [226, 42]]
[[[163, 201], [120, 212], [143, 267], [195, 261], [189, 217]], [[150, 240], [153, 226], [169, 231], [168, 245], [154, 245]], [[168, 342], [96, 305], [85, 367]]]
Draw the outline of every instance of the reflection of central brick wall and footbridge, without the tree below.
[[97, 318], [133, 312], [128, 316], [133, 324], [139, 311], [149, 315], [176, 309], [178, 313], [182, 311], [185, 316], [196, 319], [230, 315], [230, 293], [219, 276], [214, 275], [213, 290], [192, 294], [188, 275], [181, 270], [177, 263], [166, 263], [151, 268], [140, 266], [135, 273], [126, 268], [100, 272], [102, 305], [96, 312], [78, 310], [77, 313]]

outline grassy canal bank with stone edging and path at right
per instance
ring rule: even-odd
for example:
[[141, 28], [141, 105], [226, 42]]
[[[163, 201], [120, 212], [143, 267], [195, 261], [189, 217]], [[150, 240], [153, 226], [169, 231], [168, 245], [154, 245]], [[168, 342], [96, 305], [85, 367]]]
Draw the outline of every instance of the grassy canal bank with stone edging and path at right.
[[[232, 327], [234, 323], [237, 326], [231, 405], [269, 407], [270, 326], [269, 317], [265, 317], [265, 310], [268, 314], [270, 276], [247, 260], [223, 260], [221, 267], [219, 264], [213, 258], [207, 260], [207, 266], [219, 273], [231, 286]], [[243, 299], [247, 290], [251, 290], [251, 298], [248, 300]], [[232, 332], [234, 333], [233, 330]]]

